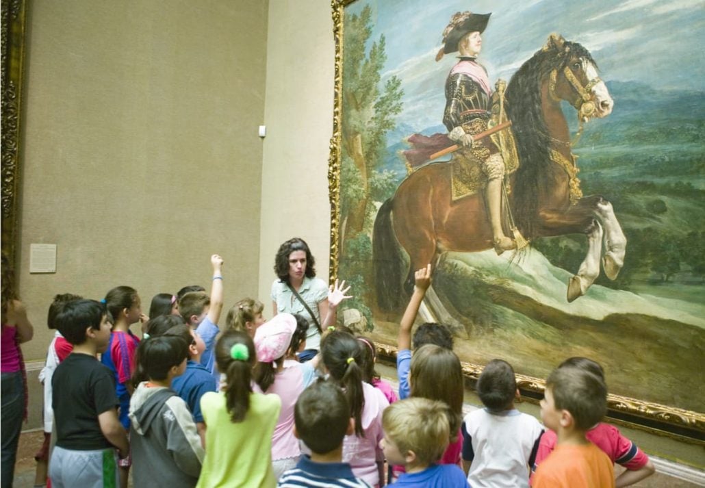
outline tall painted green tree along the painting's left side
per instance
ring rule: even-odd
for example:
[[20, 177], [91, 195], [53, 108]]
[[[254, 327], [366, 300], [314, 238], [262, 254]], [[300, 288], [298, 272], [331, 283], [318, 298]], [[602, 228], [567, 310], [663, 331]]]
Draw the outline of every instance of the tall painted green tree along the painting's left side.
[[386, 42], [380, 35], [370, 44], [372, 9], [346, 14], [345, 53], [343, 56], [343, 124], [341, 137], [341, 221], [339, 252], [340, 275], [350, 282], [355, 298], [344, 308], [357, 308], [372, 328], [372, 313], [362, 293], [372, 276], [372, 225], [375, 202], [390, 197], [395, 176], [383, 169], [386, 135], [396, 126], [402, 109], [401, 80], [396, 76], [382, 81], [386, 61]]

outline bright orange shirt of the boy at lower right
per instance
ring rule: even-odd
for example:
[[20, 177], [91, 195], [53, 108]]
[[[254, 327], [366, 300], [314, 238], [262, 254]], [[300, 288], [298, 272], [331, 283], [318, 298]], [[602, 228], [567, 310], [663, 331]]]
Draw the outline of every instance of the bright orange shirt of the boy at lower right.
[[558, 445], [539, 464], [533, 488], [614, 488], [612, 461], [595, 444]]

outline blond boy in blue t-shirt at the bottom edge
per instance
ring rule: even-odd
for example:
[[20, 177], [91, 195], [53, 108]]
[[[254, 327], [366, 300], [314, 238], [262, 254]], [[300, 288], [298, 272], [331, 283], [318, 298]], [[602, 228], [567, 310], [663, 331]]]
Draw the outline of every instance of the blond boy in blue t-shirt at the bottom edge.
[[448, 405], [428, 398], [407, 398], [382, 414], [382, 450], [387, 463], [406, 472], [389, 486], [468, 488], [465, 473], [454, 464], [436, 464], [450, 438]]

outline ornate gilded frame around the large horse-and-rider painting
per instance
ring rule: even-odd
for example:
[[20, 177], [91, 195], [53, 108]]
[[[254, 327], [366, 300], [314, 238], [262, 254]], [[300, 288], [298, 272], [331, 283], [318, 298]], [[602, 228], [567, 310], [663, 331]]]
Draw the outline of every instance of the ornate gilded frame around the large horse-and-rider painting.
[[[333, 16], [333, 37], [335, 53], [335, 91], [333, 109], [333, 136], [330, 142], [328, 168], [329, 199], [331, 202], [331, 281], [338, 277], [338, 242], [341, 233], [341, 136], [343, 109], [343, 16], [345, 6], [355, 0], [331, 0]], [[341, 276], [345, 278], [345, 276]], [[383, 360], [396, 364], [396, 347], [385, 343], [378, 344], [378, 354]], [[482, 372], [482, 365], [462, 363], [465, 377], [473, 384]], [[532, 403], [538, 403], [544, 394], [545, 382], [542, 379], [517, 374], [517, 382], [522, 395]], [[647, 432], [672, 437], [691, 444], [705, 446], [705, 415], [691, 410], [675, 408], [628, 398], [615, 394], [608, 395], [608, 417], [612, 422], [628, 425]]]

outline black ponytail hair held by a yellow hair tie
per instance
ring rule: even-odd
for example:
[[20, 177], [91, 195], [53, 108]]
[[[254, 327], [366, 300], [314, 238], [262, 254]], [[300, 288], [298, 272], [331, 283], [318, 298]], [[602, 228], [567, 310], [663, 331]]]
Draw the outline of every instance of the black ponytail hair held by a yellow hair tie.
[[345, 391], [350, 405], [350, 417], [355, 418], [355, 434], [364, 437], [362, 430], [362, 344], [348, 332], [332, 331], [321, 340], [321, 358], [330, 377]]

